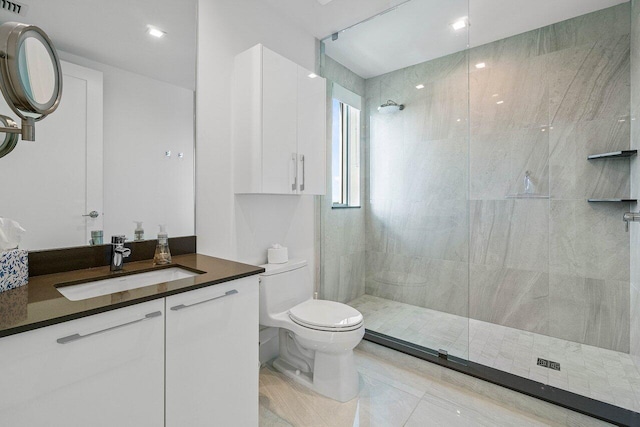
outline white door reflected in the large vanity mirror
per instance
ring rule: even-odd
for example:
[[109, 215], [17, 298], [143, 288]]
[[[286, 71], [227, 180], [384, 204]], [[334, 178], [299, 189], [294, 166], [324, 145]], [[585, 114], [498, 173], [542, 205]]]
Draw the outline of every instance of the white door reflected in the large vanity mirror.
[[[35, 141], [0, 159], [0, 217], [27, 230], [22, 249], [86, 245], [102, 230], [102, 73], [61, 64], [58, 109], [36, 122]], [[0, 114], [20, 123], [4, 99]], [[91, 211], [99, 216], [83, 216]]]

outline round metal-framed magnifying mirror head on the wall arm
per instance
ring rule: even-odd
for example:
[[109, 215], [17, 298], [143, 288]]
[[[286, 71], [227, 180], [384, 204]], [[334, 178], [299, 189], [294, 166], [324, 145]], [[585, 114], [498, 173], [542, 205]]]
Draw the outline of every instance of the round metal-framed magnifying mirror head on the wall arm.
[[23, 119], [41, 120], [60, 103], [60, 60], [38, 27], [17, 22], [0, 25], [0, 77], [7, 103]]

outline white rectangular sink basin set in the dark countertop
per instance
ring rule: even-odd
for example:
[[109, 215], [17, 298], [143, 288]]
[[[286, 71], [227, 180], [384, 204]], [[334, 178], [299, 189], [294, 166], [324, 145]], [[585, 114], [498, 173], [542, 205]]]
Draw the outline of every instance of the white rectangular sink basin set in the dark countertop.
[[157, 285], [158, 283], [186, 279], [187, 277], [193, 277], [197, 275], [198, 273], [193, 273], [183, 268], [172, 267], [163, 268], [161, 270], [148, 271], [146, 273], [129, 274], [127, 276], [80, 283], [78, 285], [59, 286], [57, 289], [58, 292], [64, 295], [68, 300], [80, 301], [83, 299], [95, 298], [102, 295], [113, 294], [116, 292], [143, 288], [150, 285]]

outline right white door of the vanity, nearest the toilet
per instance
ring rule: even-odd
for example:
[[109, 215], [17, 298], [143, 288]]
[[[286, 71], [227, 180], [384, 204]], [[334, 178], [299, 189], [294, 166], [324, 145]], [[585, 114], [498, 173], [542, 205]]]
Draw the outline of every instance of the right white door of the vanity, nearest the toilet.
[[257, 426], [257, 276], [168, 297], [166, 328], [166, 426]]

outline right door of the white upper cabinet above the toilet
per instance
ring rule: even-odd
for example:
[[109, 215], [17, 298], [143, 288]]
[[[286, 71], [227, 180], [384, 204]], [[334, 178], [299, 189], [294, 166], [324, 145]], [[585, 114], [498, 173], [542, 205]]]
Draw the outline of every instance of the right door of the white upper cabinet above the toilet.
[[298, 188], [325, 194], [326, 80], [298, 67]]

